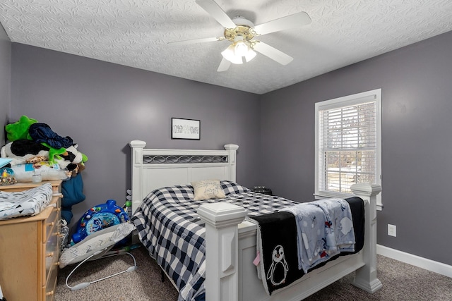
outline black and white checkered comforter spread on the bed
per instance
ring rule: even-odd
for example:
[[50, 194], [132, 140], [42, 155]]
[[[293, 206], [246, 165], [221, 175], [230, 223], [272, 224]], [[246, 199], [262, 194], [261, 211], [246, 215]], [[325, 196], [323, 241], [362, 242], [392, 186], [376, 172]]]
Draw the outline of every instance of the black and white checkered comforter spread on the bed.
[[297, 204], [282, 197], [251, 192], [237, 183], [221, 181], [224, 199], [194, 200], [191, 185], [150, 192], [132, 221], [138, 236], [179, 289], [179, 301], [198, 300], [205, 294], [204, 224], [196, 214], [201, 204], [229, 202], [248, 210], [248, 216], [269, 214]]

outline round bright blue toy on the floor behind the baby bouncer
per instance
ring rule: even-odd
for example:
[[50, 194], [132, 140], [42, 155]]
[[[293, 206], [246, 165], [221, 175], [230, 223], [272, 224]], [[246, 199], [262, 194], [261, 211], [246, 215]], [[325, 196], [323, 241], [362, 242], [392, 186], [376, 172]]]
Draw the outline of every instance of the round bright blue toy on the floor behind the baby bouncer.
[[90, 234], [126, 221], [129, 221], [129, 216], [124, 209], [117, 206], [114, 199], [109, 199], [105, 204], [99, 204], [88, 209], [78, 220], [76, 232], [72, 235], [71, 245], [81, 242]]

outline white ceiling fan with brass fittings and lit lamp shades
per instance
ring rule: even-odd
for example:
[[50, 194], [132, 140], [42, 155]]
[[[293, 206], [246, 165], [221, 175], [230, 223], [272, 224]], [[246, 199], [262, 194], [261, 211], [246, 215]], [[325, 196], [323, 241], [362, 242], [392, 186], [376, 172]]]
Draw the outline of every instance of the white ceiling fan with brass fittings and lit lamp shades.
[[311, 23], [311, 18], [309, 18], [308, 14], [300, 12], [271, 20], [260, 25], [254, 25], [250, 20], [241, 16], [230, 18], [214, 0], [196, 0], [196, 4], [210, 13], [218, 23], [225, 27], [223, 37], [189, 39], [185, 41], [170, 42], [169, 44], [185, 45], [227, 39], [231, 44], [221, 53], [222, 61], [220, 66], [218, 66], [218, 72], [227, 70], [231, 63], [240, 64], [243, 63], [244, 60], [246, 62], [251, 61], [256, 56], [256, 51], [273, 59], [273, 61], [277, 61], [282, 65], [287, 65], [287, 63], [290, 63], [293, 60], [291, 56], [258, 39], [254, 39], [254, 37], [266, 35], [271, 32], [278, 32], [280, 30], [301, 27]]

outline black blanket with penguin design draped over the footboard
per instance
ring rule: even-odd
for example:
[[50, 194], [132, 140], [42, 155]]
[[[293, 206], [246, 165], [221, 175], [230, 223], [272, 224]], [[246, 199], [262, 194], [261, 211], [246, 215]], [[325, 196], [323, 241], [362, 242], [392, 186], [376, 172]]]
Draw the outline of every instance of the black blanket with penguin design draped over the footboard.
[[[307, 266], [307, 269], [303, 269], [299, 262], [300, 252], [305, 252], [300, 251], [300, 247], [304, 247], [304, 244], [299, 241], [299, 227], [297, 226], [299, 216], [294, 215], [291, 210], [283, 209], [272, 214], [253, 216], [249, 219], [249, 221], [256, 223], [258, 228], [257, 256], [254, 264], [256, 264], [258, 277], [261, 278], [268, 295], [285, 288], [307, 272], [323, 266], [327, 260], [333, 260], [347, 254], [355, 254], [362, 250], [364, 245], [364, 202], [359, 197], [350, 197], [345, 201], [350, 207], [348, 214], [351, 215], [352, 219], [352, 225], [347, 225], [347, 227], [352, 226], [355, 243], [351, 246], [338, 247], [334, 252], [328, 252], [328, 256], [318, 254], [319, 260], [316, 260], [315, 264]], [[344, 216], [348, 215], [345, 214]], [[331, 219], [331, 216], [328, 217]], [[322, 233], [323, 227], [326, 226], [331, 225], [323, 222]], [[316, 230], [318, 229], [316, 228]], [[326, 230], [331, 231], [330, 228]], [[328, 233], [328, 231], [324, 233]], [[344, 239], [349, 242], [350, 237], [352, 236], [347, 235]], [[328, 248], [326, 237], [325, 240], [320, 239], [320, 241], [320, 245]]]

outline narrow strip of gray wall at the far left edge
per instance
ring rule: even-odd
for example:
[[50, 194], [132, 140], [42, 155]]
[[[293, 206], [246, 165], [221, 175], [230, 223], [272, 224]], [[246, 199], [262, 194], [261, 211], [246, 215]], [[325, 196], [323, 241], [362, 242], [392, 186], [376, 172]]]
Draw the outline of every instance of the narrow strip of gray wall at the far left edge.
[[4, 125], [8, 123], [11, 104], [11, 42], [0, 24], [0, 145], [4, 145]]

